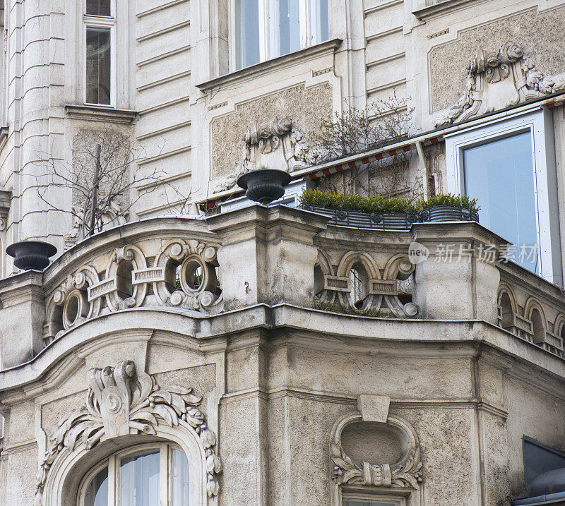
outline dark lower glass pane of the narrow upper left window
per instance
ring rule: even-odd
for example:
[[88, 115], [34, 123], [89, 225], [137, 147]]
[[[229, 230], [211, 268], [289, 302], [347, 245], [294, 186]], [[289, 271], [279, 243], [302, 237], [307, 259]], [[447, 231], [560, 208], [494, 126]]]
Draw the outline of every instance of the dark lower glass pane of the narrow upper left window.
[[86, 30], [86, 102], [109, 104], [111, 86], [110, 31]]

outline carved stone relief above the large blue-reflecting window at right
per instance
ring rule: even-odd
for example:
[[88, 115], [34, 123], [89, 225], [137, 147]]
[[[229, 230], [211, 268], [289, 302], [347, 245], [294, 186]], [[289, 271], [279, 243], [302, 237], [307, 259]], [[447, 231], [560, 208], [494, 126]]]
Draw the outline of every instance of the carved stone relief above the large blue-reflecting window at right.
[[467, 89], [436, 126], [565, 90], [565, 74], [544, 76], [515, 42], [506, 42], [492, 53], [480, 49], [467, 72]]

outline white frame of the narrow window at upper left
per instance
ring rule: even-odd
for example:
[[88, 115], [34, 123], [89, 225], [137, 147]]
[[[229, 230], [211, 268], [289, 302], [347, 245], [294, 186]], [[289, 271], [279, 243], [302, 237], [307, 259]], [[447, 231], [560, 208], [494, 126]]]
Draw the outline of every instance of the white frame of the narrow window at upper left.
[[[86, 13], [86, 0], [82, 0], [83, 5], [83, 33], [81, 40], [81, 53], [83, 55], [83, 103], [85, 105], [95, 107], [107, 107], [114, 109], [116, 107], [117, 82], [116, 82], [116, 58], [117, 58], [117, 40], [116, 40], [116, 2], [110, 1], [110, 16], [93, 16]], [[88, 28], [102, 29], [110, 31], [110, 103], [109, 104], [93, 104], [86, 101], [86, 30]]]

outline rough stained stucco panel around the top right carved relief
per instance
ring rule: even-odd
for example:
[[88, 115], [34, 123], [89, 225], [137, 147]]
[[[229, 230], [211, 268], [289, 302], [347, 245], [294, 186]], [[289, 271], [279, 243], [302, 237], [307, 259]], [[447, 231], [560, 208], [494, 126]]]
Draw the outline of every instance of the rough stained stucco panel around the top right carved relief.
[[465, 68], [478, 49], [496, 52], [509, 40], [523, 47], [525, 56], [532, 58], [542, 73], [565, 71], [565, 7], [496, 20], [465, 30], [455, 42], [432, 49], [428, 57], [432, 112], [457, 102], [465, 91]]

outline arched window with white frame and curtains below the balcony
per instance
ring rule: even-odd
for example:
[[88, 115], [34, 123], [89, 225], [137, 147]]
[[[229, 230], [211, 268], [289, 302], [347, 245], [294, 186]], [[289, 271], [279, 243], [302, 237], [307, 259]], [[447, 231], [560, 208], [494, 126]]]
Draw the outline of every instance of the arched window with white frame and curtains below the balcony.
[[180, 447], [154, 443], [130, 447], [85, 476], [79, 506], [191, 506], [189, 461]]

